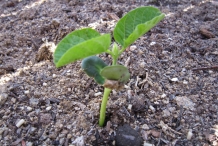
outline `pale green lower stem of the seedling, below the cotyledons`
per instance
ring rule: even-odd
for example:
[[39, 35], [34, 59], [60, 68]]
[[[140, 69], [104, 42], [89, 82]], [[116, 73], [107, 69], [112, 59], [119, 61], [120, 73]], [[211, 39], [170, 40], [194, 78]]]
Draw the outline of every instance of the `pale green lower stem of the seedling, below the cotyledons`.
[[101, 110], [100, 110], [100, 118], [99, 118], [99, 126], [103, 127], [105, 115], [106, 115], [106, 107], [107, 107], [107, 101], [108, 96], [110, 95], [111, 89], [104, 88], [104, 96], [101, 102]]

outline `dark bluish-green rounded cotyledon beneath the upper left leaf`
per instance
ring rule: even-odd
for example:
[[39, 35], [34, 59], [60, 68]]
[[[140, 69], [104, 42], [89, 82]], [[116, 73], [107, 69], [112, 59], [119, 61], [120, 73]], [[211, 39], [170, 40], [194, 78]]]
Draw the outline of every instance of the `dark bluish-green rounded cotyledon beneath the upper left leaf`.
[[98, 84], [103, 85], [105, 80], [100, 75], [101, 70], [106, 67], [107, 64], [97, 56], [90, 56], [83, 59], [81, 67], [90, 77], [93, 77]]

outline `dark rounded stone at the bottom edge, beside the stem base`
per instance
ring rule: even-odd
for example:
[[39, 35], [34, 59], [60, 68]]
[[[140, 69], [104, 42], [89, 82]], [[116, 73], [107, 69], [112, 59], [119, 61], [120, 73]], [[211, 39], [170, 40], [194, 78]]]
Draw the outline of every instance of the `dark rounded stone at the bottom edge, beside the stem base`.
[[115, 136], [116, 146], [141, 146], [142, 142], [139, 133], [129, 125], [125, 124], [118, 127]]

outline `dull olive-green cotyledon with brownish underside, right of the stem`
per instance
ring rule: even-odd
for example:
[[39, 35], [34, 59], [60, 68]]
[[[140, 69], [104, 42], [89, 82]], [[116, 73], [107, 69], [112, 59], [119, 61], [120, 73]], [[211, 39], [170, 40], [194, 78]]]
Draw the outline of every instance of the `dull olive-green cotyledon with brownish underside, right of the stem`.
[[130, 78], [128, 68], [123, 65], [107, 66], [101, 70], [101, 75], [108, 80], [126, 83]]

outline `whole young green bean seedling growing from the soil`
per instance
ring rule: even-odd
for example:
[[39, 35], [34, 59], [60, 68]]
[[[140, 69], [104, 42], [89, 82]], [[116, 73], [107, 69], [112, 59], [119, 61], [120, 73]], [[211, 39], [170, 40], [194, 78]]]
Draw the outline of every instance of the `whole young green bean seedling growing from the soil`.
[[[145, 6], [136, 8], [122, 17], [113, 31], [115, 41], [112, 48], [110, 34], [101, 35], [96, 30], [84, 28], [75, 30], [64, 37], [54, 52], [56, 67], [83, 59], [81, 67], [90, 77], [104, 86], [99, 125], [105, 121], [106, 105], [111, 90], [120, 90], [130, 78], [127, 67], [117, 64], [117, 60], [125, 49], [140, 36], [164, 18], [159, 9]], [[112, 65], [107, 65], [101, 58], [94, 56], [108, 53], [112, 57]]]

